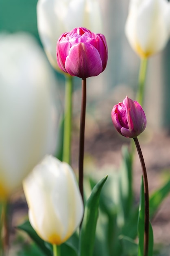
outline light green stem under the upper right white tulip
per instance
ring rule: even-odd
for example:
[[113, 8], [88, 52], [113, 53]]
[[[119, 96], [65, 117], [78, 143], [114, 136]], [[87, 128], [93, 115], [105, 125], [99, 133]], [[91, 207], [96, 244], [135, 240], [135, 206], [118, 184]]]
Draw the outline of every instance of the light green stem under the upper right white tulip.
[[139, 80], [138, 80], [138, 92], [137, 92], [137, 101], [142, 106], [144, 101], [144, 87], [146, 81], [146, 70], [147, 70], [147, 58], [142, 58], [140, 62], [140, 70], [139, 70]]

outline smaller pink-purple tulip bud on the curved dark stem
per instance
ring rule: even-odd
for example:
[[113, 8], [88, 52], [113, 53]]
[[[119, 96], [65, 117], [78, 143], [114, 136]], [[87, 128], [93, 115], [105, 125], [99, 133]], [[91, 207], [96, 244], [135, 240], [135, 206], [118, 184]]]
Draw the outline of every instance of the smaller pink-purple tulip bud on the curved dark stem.
[[144, 110], [137, 101], [133, 101], [127, 96], [123, 102], [113, 107], [111, 119], [116, 130], [127, 138], [137, 137], [146, 128]]

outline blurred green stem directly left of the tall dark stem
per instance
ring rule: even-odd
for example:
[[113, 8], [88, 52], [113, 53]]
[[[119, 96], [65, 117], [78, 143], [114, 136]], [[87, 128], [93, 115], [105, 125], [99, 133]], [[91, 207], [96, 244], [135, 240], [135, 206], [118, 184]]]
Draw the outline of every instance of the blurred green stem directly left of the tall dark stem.
[[70, 164], [71, 130], [72, 130], [72, 76], [66, 76], [65, 81], [65, 119], [63, 138], [63, 162]]

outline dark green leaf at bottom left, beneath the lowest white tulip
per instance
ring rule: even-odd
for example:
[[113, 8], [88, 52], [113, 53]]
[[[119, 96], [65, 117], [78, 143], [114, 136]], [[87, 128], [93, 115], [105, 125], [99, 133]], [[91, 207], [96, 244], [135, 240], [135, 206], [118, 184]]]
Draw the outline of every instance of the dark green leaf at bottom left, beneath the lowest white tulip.
[[41, 251], [44, 252], [44, 254], [46, 256], [51, 256], [52, 255], [50, 249], [48, 249], [46, 247], [44, 240], [42, 240], [37, 235], [37, 233], [35, 232], [35, 230], [31, 226], [29, 220], [24, 222], [22, 225], [17, 226], [17, 228], [20, 229], [20, 230], [25, 231], [32, 238], [32, 240], [35, 242], [35, 244], [41, 249]]

